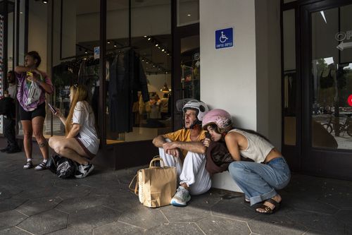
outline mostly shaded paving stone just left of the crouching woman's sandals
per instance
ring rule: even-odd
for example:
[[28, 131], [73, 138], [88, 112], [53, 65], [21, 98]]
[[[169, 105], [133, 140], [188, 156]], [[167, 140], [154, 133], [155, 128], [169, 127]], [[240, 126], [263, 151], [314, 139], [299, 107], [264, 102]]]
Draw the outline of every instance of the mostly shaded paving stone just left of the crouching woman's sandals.
[[249, 221], [258, 216], [258, 213], [253, 208], [249, 205], [244, 205], [243, 200], [244, 198], [220, 200], [219, 203], [211, 207], [212, 214], [241, 221]]

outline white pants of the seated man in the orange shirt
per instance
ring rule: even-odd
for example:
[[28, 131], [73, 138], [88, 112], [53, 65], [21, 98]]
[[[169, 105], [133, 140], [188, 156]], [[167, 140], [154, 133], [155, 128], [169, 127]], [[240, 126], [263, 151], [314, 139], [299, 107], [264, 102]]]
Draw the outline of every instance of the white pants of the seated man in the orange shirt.
[[188, 152], [182, 165], [179, 157], [165, 154], [163, 147], [159, 147], [159, 155], [168, 167], [176, 167], [178, 181], [187, 183], [191, 195], [206, 193], [211, 187], [211, 179], [206, 170], [206, 155]]

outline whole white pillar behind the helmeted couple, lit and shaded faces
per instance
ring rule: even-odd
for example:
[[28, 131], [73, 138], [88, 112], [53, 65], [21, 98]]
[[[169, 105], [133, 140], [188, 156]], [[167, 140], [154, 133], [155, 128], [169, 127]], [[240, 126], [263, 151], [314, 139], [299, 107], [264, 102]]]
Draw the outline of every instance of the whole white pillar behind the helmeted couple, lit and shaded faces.
[[[201, 100], [280, 148], [279, 22], [279, 0], [200, 1]], [[230, 27], [234, 47], [215, 49], [215, 30]], [[240, 191], [227, 172], [213, 177], [213, 187]]]

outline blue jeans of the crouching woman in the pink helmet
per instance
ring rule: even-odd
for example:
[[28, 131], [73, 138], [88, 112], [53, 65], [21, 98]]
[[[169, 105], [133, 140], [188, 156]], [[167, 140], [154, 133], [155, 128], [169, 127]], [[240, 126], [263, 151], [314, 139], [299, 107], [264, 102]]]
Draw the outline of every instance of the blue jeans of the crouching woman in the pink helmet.
[[232, 162], [229, 166], [232, 179], [244, 191], [251, 205], [277, 195], [275, 189], [287, 186], [291, 178], [289, 165], [284, 157], [272, 159], [267, 164], [256, 162]]

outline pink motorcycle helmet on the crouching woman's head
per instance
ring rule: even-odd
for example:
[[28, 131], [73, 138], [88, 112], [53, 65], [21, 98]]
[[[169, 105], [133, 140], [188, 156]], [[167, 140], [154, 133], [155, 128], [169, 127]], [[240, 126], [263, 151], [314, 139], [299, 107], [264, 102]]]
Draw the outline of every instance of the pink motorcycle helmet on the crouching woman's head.
[[206, 113], [203, 117], [202, 128], [206, 130], [211, 124], [218, 127], [219, 133], [227, 133], [233, 128], [231, 115], [224, 109], [213, 109]]

